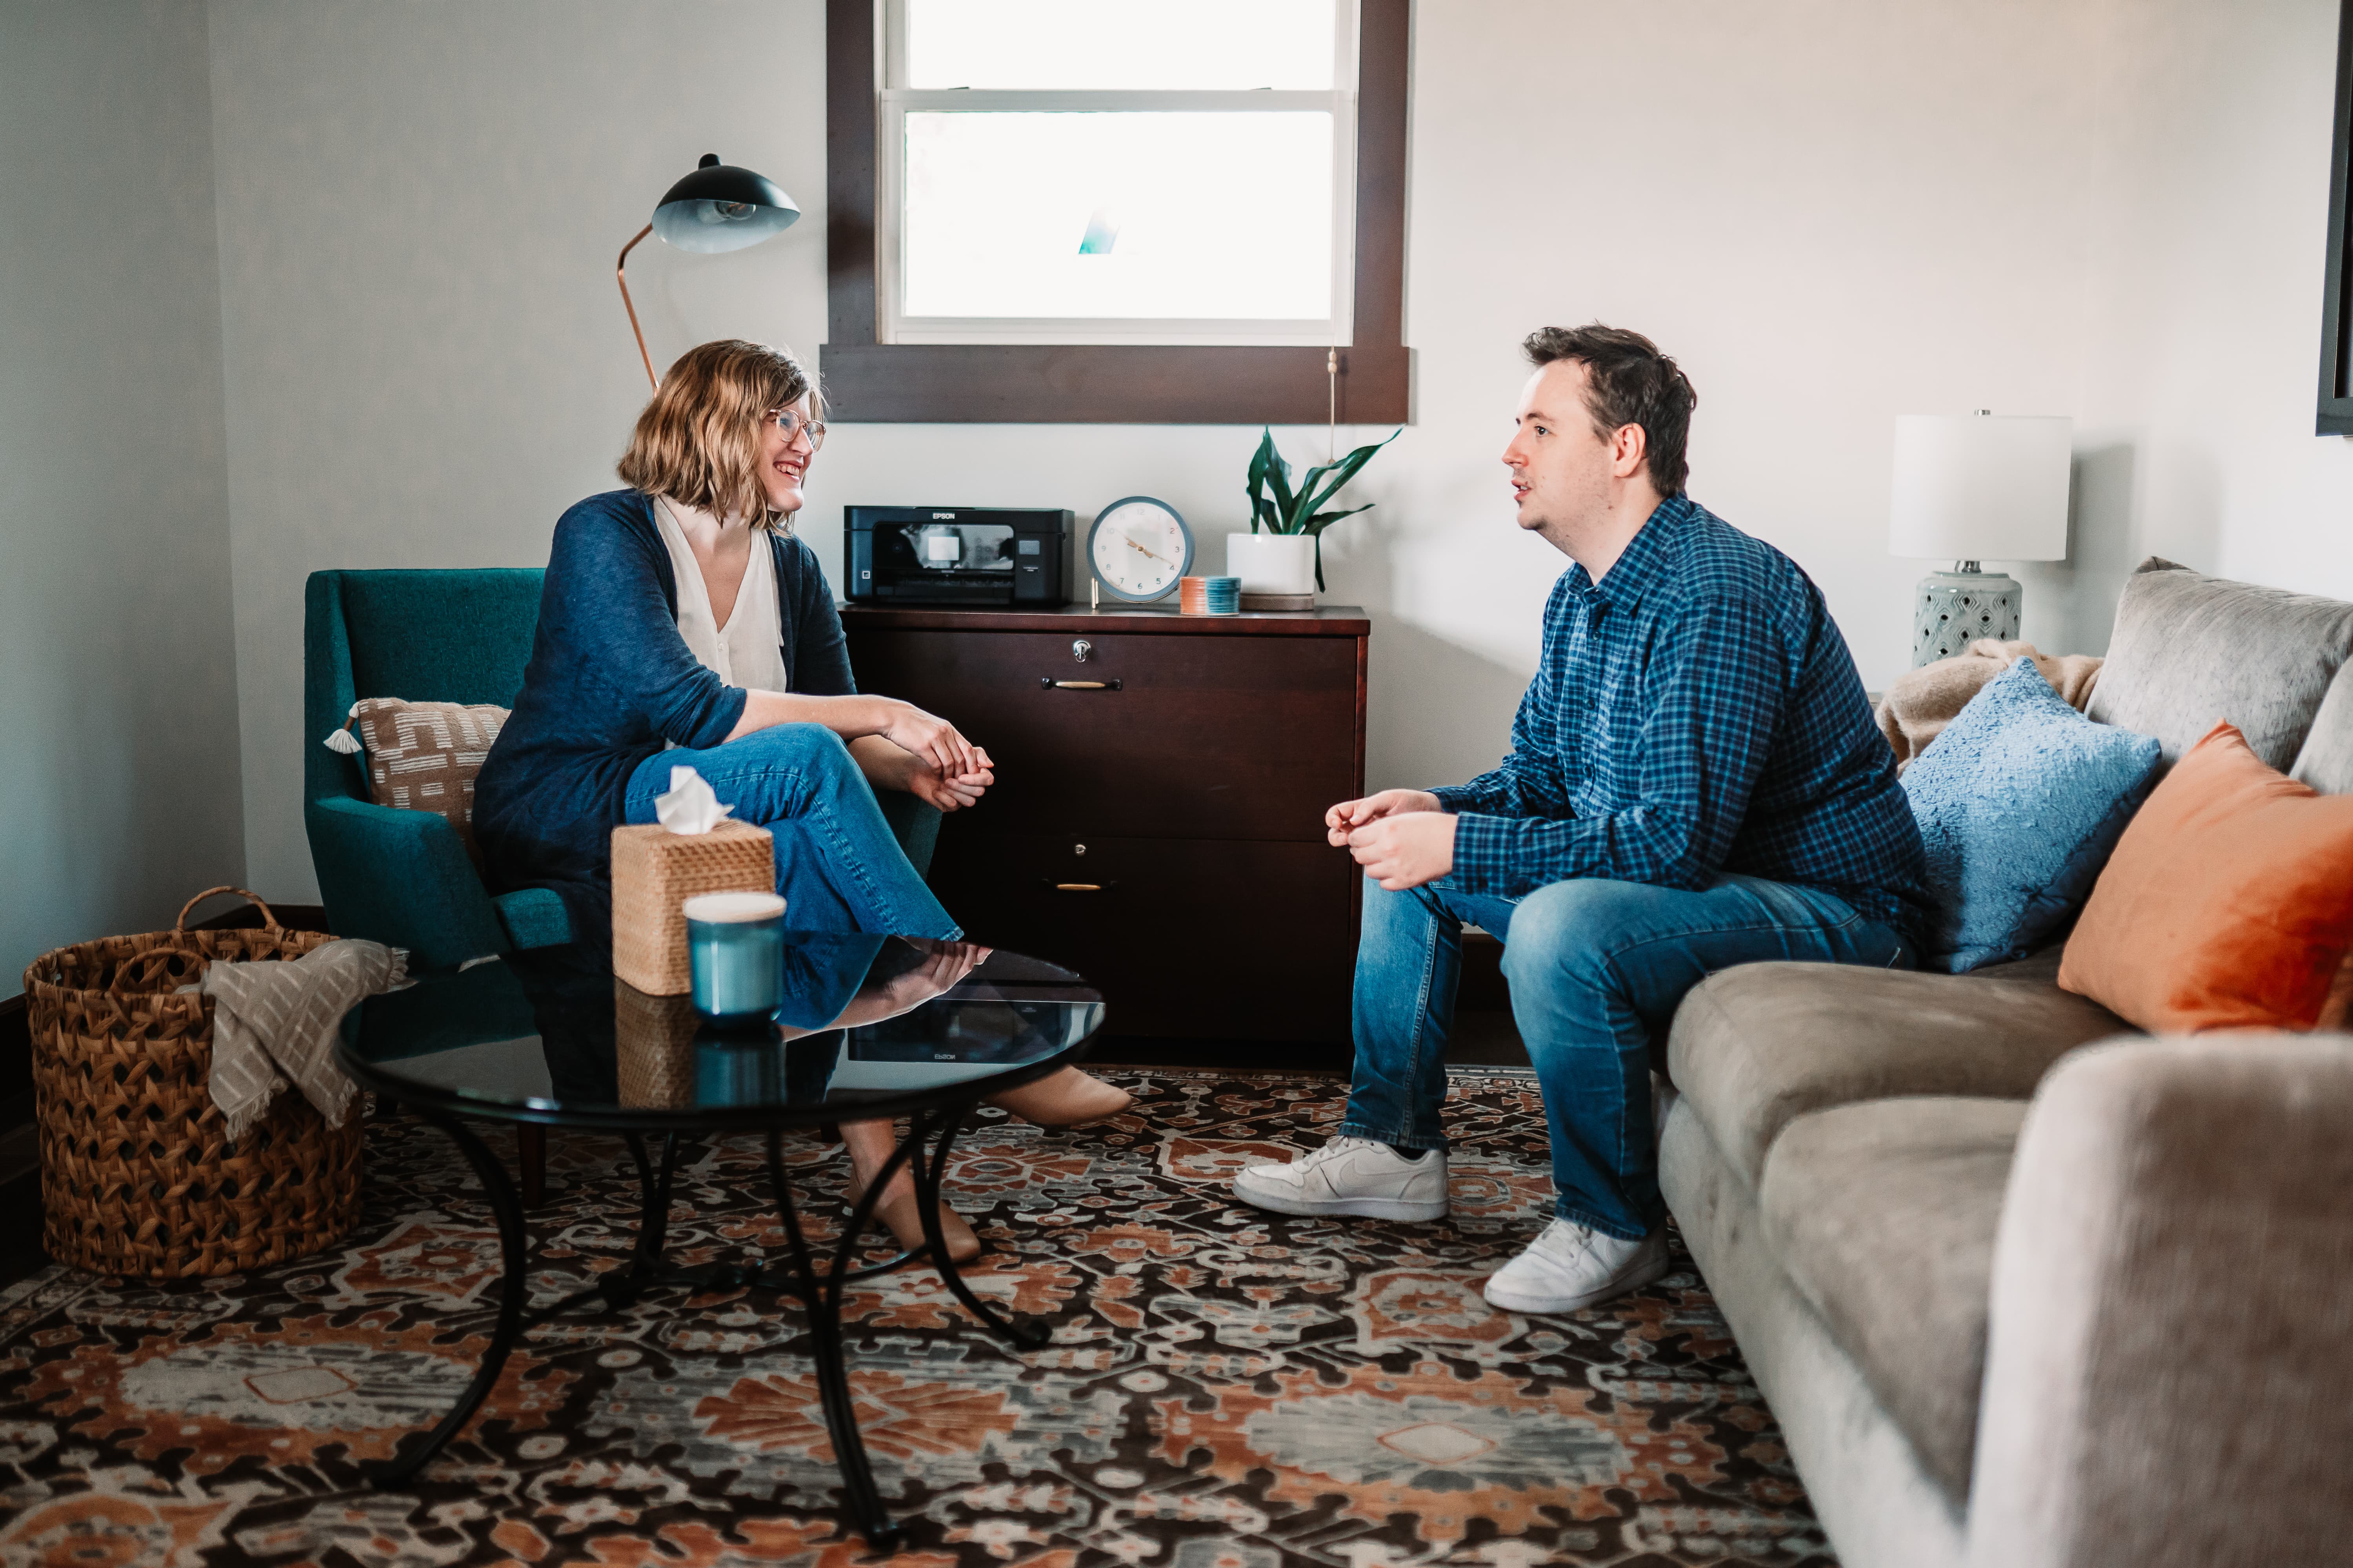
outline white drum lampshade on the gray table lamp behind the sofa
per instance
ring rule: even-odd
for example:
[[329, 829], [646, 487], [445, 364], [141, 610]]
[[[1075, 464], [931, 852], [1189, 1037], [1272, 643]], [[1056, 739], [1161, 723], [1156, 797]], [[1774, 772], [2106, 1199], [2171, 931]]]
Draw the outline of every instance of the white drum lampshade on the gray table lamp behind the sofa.
[[2066, 559], [2073, 423], [2033, 414], [1897, 418], [1887, 552], [1920, 559]]

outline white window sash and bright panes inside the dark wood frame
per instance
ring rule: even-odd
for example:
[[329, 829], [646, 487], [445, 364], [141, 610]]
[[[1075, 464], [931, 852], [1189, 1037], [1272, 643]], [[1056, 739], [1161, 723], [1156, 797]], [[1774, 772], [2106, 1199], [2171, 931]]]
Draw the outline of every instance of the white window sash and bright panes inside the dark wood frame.
[[1355, 5], [887, 0], [885, 343], [1348, 341]]

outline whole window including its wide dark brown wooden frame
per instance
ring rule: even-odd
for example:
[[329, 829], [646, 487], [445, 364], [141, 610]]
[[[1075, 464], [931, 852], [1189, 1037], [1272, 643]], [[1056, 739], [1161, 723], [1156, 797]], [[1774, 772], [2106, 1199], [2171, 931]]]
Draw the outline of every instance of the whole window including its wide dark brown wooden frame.
[[831, 0], [854, 418], [1405, 416], [1405, 0]]

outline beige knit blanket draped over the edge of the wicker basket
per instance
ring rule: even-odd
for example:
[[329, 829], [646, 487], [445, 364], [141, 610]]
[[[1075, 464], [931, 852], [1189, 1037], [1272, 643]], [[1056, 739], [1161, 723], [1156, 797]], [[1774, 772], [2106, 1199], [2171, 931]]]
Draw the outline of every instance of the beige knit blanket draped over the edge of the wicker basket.
[[294, 961], [209, 964], [212, 1103], [228, 1121], [228, 1138], [268, 1114], [289, 1081], [318, 1107], [327, 1126], [344, 1126], [358, 1084], [334, 1065], [344, 1013], [362, 997], [407, 980], [407, 952], [381, 943], [339, 940]]

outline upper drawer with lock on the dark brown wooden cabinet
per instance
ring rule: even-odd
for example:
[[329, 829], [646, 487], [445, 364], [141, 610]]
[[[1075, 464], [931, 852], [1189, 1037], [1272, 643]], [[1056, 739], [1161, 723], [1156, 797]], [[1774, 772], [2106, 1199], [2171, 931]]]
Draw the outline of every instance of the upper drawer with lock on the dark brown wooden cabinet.
[[[1085, 639], [1087, 658], [1073, 656]], [[854, 628], [861, 691], [988, 748], [1002, 832], [1322, 844], [1358, 783], [1355, 637]], [[1071, 686], [1056, 682], [1092, 682]]]

